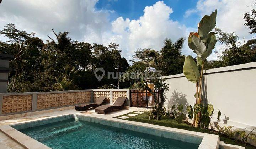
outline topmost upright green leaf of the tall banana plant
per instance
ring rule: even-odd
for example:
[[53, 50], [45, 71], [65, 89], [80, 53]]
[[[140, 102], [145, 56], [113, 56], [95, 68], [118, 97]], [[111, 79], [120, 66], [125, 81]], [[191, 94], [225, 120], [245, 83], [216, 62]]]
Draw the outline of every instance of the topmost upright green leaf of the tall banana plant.
[[202, 20], [199, 22], [198, 26], [198, 35], [203, 42], [206, 41], [207, 34], [212, 31], [212, 29], [216, 26], [216, 15], [217, 10], [212, 12], [210, 16], [205, 15]]

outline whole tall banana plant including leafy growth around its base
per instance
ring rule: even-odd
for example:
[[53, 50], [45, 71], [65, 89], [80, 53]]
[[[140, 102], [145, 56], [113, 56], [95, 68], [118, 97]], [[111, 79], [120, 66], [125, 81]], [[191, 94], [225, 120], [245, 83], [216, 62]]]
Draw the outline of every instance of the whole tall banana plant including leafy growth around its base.
[[[210, 16], [205, 15], [198, 24], [198, 32], [191, 32], [188, 37], [188, 46], [197, 54], [197, 64], [192, 56], [187, 56], [184, 61], [183, 73], [193, 83], [196, 83], [196, 104], [194, 105], [194, 126], [208, 128], [210, 117], [213, 114], [212, 105], [202, 105], [202, 78], [204, 63], [210, 56], [217, 42], [214, 32], [211, 32], [216, 26], [217, 10]], [[201, 71], [201, 73], [200, 73]], [[198, 89], [199, 88], [199, 89]], [[187, 108], [190, 117], [192, 110]]]

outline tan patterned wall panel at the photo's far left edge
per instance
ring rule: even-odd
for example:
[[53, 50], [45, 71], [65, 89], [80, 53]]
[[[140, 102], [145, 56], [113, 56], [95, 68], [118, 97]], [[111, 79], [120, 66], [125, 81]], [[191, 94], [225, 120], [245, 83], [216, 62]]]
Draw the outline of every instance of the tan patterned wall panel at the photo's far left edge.
[[2, 114], [32, 110], [32, 95], [3, 96]]

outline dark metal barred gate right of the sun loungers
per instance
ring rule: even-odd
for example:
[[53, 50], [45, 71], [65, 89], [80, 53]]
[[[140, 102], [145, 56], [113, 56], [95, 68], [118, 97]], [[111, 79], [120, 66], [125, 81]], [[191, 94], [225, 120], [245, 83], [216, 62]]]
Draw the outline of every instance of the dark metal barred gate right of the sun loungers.
[[[158, 90], [153, 90], [159, 100]], [[152, 108], [154, 106], [154, 97], [147, 90], [130, 90], [130, 105], [137, 107]]]

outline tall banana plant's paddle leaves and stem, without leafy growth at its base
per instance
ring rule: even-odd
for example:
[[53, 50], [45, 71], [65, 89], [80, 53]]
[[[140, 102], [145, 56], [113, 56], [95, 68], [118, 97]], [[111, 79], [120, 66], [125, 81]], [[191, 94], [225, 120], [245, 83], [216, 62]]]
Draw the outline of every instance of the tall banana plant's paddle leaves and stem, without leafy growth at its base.
[[[212, 54], [217, 42], [217, 33], [211, 32], [216, 26], [216, 15], [217, 10], [212, 12], [210, 16], [205, 15], [198, 23], [198, 32], [191, 32], [188, 37], [188, 47], [197, 54], [197, 63], [192, 56], [187, 56], [184, 61], [183, 73], [188, 81], [196, 83], [196, 104], [201, 104], [204, 63], [207, 57]], [[194, 115], [198, 121], [198, 113], [195, 112]], [[196, 123], [194, 123], [195, 126], [197, 126]]]

